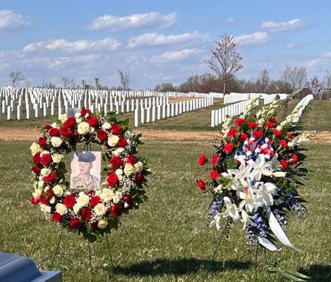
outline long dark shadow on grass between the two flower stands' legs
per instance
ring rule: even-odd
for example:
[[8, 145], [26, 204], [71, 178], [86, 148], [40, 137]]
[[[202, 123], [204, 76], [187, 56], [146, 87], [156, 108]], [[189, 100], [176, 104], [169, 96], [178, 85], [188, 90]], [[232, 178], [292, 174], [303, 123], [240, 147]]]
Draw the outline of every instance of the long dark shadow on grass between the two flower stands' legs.
[[[207, 271], [210, 265], [210, 260], [207, 259], [156, 259], [154, 261], [144, 261], [138, 264], [132, 264], [128, 267], [116, 266], [116, 274], [138, 275], [138, 276], [162, 276], [164, 274], [190, 274], [199, 270]], [[239, 262], [229, 260], [222, 268], [222, 262], [212, 262], [210, 272], [221, 272], [227, 270], [248, 269], [251, 262]]]

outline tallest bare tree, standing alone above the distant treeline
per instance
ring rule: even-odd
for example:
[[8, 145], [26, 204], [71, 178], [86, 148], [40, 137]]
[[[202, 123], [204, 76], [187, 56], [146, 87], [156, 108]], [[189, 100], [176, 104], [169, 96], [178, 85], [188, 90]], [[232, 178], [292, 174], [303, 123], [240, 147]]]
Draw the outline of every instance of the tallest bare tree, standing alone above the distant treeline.
[[236, 51], [237, 43], [234, 41], [234, 36], [224, 34], [219, 42], [215, 42], [217, 47], [210, 50], [212, 55], [205, 63], [214, 71], [223, 81], [223, 93], [225, 94], [225, 86], [234, 74], [243, 68], [241, 64], [242, 57]]

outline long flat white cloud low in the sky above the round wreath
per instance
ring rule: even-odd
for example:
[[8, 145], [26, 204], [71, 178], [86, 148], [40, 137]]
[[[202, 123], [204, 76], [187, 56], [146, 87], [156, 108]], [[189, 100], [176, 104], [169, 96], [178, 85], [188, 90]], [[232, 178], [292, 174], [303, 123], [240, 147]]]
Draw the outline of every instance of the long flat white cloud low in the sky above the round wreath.
[[104, 51], [111, 50], [114, 51], [121, 46], [121, 42], [112, 37], [105, 39], [92, 41], [92, 40], [77, 40], [77, 41], [67, 41], [65, 39], [56, 39], [48, 42], [35, 42], [28, 44], [23, 48], [23, 52], [33, 52], [33, 51]]

